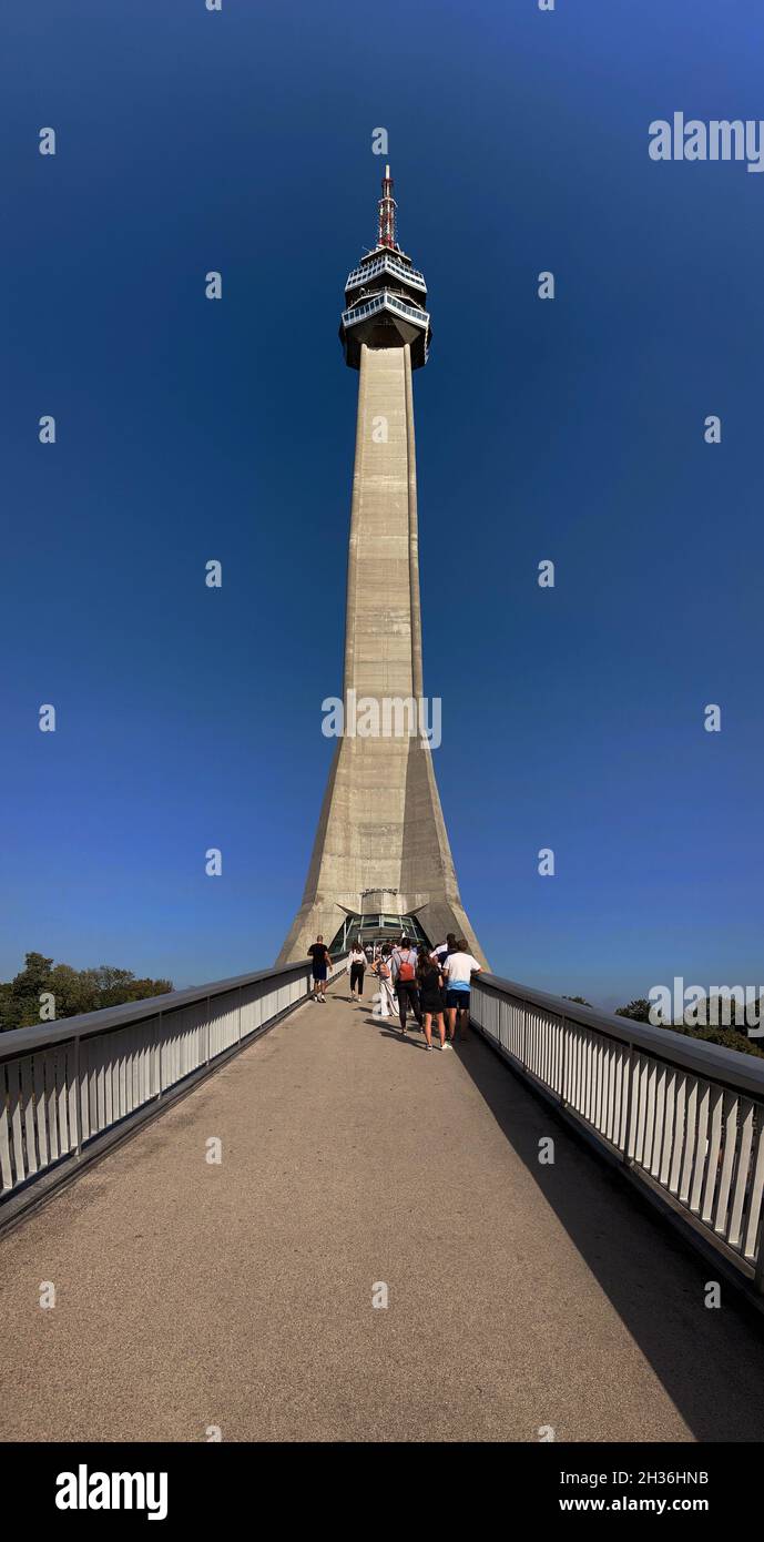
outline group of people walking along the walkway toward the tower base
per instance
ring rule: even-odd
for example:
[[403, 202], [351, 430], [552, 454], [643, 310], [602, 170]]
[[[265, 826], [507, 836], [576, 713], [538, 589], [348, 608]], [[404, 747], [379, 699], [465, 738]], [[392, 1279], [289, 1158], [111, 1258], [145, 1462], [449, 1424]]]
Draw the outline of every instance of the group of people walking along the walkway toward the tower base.
[[[313, 1001], [325, 1004], [327, 978], [333, 961], [323, 938], [319, 936], [308, 951], [313, 959]], [[384, 942], [367, 948], [356, 939], [350, 950], [348, 968], [350, 999], [360, 1002], [368, 968], [377, 987], [377, 1015], [380, 1018], [397, 1015], [400, 1033], [405, 1035], [411, 1012], [424, 1032], [428, 1050], [433, 1049], [433, 1029], [442, 1050], [448, 1049], [457, 1035], [459, 1039], [467, 1038], [470, 979], [481, 964], [468, 951], [464, 938], [456, 938], [450, 931], [445, 942], [433, 951], [424, 945], [414, 947], [410, 938], [400, 938], [396, 945]]]

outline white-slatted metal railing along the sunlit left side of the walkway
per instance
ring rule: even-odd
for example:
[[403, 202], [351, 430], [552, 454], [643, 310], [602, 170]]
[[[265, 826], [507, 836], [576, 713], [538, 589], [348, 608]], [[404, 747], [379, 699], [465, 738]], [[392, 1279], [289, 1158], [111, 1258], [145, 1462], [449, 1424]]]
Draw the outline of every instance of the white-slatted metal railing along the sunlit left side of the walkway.
[[308, 987], [305, 961], [0, 1033], [0, 1226], [271, 1029]]

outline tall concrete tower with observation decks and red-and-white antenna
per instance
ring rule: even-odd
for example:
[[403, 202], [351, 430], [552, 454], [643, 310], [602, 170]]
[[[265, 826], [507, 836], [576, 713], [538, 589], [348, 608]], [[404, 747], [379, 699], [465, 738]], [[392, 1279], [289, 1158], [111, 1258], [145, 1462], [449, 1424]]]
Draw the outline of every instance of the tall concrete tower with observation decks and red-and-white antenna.
[[422, 678], [411, 376], [427, 364], [431, 325], [424, 274], [397, 244], [390, 167], [377, 242], [348, 273], [339, 336], [345, 362], [359, 372], [345, 731], [279, 962], [305, 958], [317, 934], [343, 948], [357, 934], [394, 936], [404, 925], [430, 942], [454, 931], [482, 961], [459, 896], [427, 737], [433, 717]]

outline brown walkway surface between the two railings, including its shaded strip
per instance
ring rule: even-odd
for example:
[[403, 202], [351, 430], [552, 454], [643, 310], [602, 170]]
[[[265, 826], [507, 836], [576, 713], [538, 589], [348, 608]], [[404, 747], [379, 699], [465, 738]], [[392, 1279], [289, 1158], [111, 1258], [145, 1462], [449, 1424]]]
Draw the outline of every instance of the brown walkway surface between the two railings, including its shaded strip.
[[476, 1036], [422, 1045], [340, 982], [0, 1241], [0, 1437], [762, 1440], [709, 1266]]

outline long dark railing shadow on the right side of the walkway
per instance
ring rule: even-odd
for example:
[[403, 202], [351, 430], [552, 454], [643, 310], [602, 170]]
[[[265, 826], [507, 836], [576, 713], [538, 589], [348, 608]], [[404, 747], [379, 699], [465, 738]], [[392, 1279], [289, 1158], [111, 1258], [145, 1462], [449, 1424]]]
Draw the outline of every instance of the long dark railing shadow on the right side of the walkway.
[[[764, 1320], [478, 1033], [464, 1069], [698, 1440], [764, 1439]], [[553, 1136], [555, 1164], [539, 1163]], [[639, 1392], [635, 1391], [638, 1397]]]

